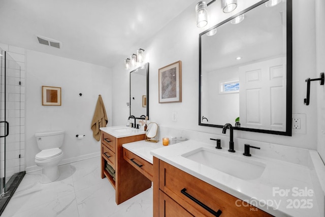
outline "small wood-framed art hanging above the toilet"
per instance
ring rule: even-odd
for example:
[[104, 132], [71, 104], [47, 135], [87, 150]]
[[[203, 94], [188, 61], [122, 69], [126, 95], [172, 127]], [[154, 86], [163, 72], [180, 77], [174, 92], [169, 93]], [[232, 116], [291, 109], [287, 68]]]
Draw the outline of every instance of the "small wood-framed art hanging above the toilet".
[[42, 105], [60, 106], [61, 87], [42, 86]]

